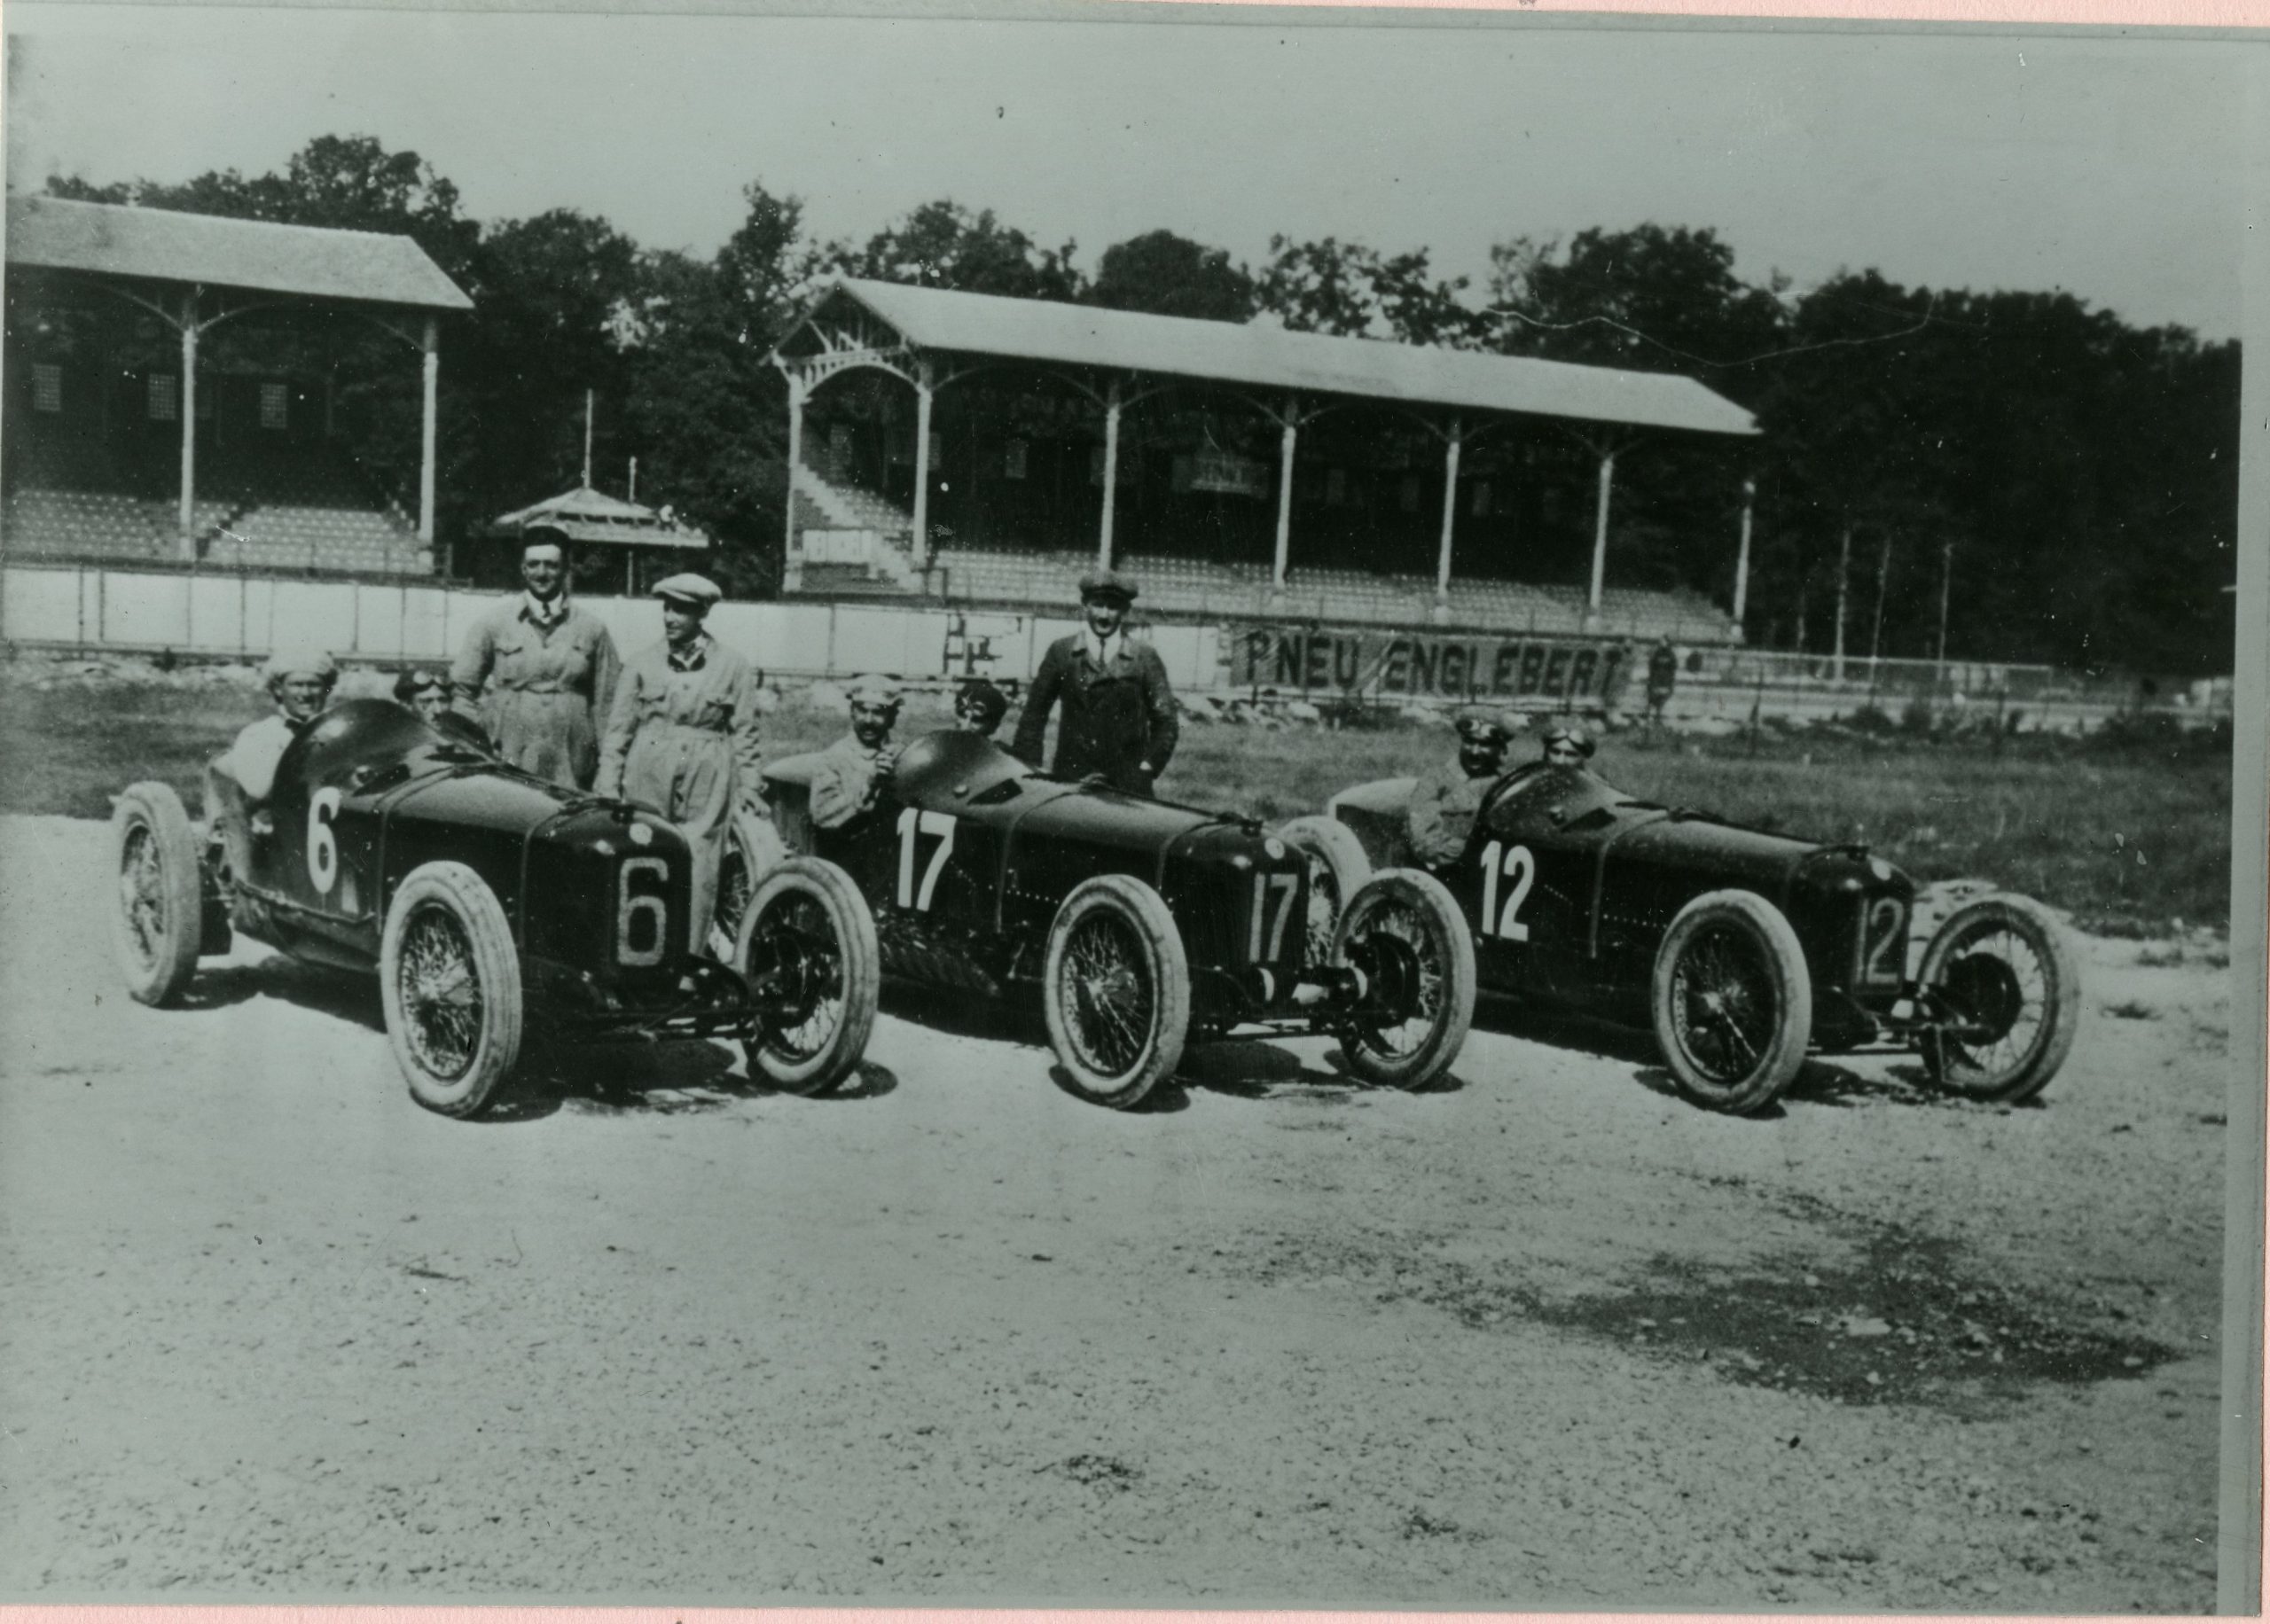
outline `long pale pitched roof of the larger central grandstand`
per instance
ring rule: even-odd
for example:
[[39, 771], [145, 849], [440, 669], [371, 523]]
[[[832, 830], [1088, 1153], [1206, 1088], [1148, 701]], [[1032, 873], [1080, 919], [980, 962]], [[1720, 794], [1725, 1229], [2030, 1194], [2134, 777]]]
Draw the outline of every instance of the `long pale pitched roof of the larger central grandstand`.
[[[813, 304], [810, 315], [817, 315], [829, 299], [858, 302], [922, 349], [1355, 395], [1412, 406], [1464, 406], [1693, 433], [1757, 433], [1757, 422], [1734, 401], [1693, 379], [1664, 372], [1623, 372], [1378, 338], [1289, 333], [1280, 327], [1142, 315], [1051, 299], [1006, 299], [860, 277], [844, 277], [831, 286]], [[794, 336], [792, 331], [783, 340], [783, 349]]]

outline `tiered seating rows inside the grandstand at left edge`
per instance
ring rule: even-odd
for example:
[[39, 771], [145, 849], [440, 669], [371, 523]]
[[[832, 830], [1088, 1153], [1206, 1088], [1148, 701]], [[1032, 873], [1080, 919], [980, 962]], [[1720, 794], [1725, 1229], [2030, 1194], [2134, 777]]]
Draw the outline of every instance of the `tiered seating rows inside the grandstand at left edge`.
[[[193, 508], [195, 556], [218, 569], [431, 576], [434, 553], [400, 506], [331, 451], [232, 451]], [[175, 465], [107, 447], [32, 445], [0, 531], [18, 558], [177, 563]]]

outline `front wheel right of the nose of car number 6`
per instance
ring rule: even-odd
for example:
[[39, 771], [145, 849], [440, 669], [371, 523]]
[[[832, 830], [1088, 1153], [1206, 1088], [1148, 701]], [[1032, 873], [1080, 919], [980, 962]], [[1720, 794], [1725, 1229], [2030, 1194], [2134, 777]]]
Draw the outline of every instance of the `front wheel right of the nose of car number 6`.
[[883, 996], [883, 950], [849, 873], [819, 857], [776, 862], [749, 891], [733, 969], [763, 1009], [749, 1071], [785, 1093], [826, 1093], [858, 1068]]

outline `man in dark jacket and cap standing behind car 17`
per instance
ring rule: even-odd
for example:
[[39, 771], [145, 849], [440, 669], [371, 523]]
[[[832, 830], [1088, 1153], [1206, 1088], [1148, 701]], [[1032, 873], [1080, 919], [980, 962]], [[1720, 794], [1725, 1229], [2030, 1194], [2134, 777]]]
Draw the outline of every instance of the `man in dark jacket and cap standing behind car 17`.
[[1081, 576], [1087, 626], [1049, 644], [1010, 748], [1040, 767], [1049, 710], [1062, 701], [1049, 771], [1058, 778], [1101, 778], [1115, 789], [1146, 796], [1167, 771], [1180, 724], [1167, 667], [1151, 644], [1128, 637], [1133, 601], [1135, 583], [1112, 569]]

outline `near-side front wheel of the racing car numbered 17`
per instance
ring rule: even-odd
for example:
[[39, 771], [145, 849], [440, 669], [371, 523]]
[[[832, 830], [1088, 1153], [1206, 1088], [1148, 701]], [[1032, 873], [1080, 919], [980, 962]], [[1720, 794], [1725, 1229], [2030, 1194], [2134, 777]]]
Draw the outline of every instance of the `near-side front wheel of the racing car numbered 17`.
[[1103, 873], [1074, 887], [1049, 925], [1040, 987], [1049, 1046], [1083, 1100], [1126, 1109], [1183, 1061], [1189, 957], [1142, 880]]

